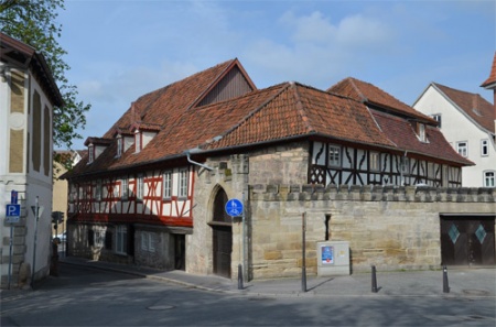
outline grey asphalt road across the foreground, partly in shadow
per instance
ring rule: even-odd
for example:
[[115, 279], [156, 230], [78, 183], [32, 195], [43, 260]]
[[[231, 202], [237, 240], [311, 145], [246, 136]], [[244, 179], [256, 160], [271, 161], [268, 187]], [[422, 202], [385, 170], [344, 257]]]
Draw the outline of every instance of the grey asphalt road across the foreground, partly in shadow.
[[9, 293], [1, 326], [495, 326], [494, 297], [265, 297], [61, 264]]

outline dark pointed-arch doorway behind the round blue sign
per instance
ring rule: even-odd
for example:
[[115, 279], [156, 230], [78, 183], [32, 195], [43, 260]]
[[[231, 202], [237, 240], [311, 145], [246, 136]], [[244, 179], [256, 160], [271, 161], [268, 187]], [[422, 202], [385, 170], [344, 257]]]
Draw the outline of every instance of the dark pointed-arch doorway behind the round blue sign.
[[214, 199], [213, 229], [214, 274], [230, 279], [230, 253], [233, 252], [233, 227], [225, 206], [227, 194], [219, 189]]

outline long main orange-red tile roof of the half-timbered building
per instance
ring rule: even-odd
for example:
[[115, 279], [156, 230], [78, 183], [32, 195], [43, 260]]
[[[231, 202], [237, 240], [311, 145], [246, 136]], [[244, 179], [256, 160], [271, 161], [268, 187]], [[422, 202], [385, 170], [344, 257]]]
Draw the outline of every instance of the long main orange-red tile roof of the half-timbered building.
[[[214, 70], [224, 68], [216, 66]], [[206, 75], [211, 78], [218, 76], [218, 72], [211, 69], [205, 70]], [[139, 98], [106, 133], [106, 137], [114, 138], [117, 129], [129, 129], [136, 119], [160, 123], [161, 130], [139, 153], [134, 153], [134, 146], [131, 146], [121, 157], [116, 157], [117, 142], [112, 142], [90, 165], [84, 157], [71, 175], [184, 159], [185, 151], [196, 148], [229, 150], [293, 138], [341, 140], [390, 151], [424, 151], [427, 156], [444, 162], [471, 164], [453, 154], [435, 129], [429, 129], [429, 145], [419, 144], [414, 131], [406, 128], [409, 122], [403, 117], [392, 119], [391, 115], [379, 115], [363, 101], [298, 83], [283, 83], [192, 108], [204, 89], [198, 84], [209, 85], [203, 76], [205, 72]], [[392, 109], [389, 111], [399, 111]], [[403, 116], [406, 110], [401, 111]]]

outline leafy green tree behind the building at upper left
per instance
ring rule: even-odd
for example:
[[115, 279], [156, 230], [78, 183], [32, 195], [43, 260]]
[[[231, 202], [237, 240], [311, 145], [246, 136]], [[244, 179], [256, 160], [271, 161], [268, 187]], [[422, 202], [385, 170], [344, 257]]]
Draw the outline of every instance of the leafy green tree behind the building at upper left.
[[64, 0], [0, 0], [0, 30], [45, 57], [64, 99], [63, 107], [53, 112], [54, 145], [71, 149], [73, 140], [83, 139], [77, 129], [86, 126], [85, 112], [90, 105], [77, 100], [77, 87], [65, 77], [71, 67], [64, 62], [67, 52], [57, 41], [62, 33], [56, 22], [60, 10], [65, 10]]

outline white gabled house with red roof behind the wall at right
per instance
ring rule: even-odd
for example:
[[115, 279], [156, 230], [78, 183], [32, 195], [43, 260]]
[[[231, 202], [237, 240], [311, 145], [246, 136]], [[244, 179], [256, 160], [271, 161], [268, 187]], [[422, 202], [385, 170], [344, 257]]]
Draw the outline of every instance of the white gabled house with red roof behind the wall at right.
[[[496, 54], [489, 77], [481, 86], [493, 89], [496, 102]], [[431, 83], [413, 108], [438, 120], [452, 146], [475, 163], [463, 167], [462, 186], [496, 186], [496, 103], [478, 94]]]

